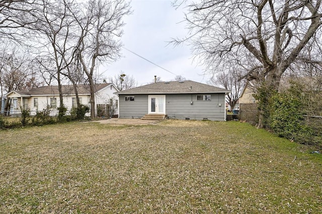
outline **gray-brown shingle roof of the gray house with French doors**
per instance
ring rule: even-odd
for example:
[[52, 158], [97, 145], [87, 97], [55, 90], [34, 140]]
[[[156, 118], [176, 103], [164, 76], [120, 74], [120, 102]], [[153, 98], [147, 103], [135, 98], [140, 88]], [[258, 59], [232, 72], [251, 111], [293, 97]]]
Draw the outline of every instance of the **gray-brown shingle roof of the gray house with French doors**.
[[157, 82], [114, 94], [200, 94], [200, 93], [229, 93], [226, 89], [209, 86], [194, 81]]

